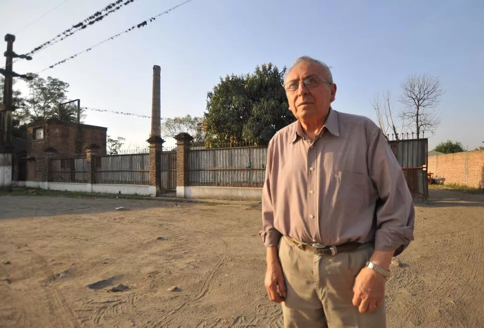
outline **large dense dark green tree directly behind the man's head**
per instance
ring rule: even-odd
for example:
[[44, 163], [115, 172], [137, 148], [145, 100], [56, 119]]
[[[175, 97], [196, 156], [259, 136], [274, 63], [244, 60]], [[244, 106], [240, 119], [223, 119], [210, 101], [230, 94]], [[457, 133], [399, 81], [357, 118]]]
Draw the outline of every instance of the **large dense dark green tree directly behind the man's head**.
[[293, 122], [283, 87], [285, 71], [268, 63], [252, 74], [220, 78], [207, 94], [205, 145], [267, 145], [278, 130]]

